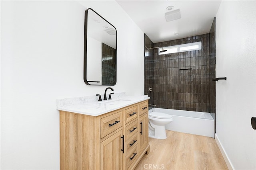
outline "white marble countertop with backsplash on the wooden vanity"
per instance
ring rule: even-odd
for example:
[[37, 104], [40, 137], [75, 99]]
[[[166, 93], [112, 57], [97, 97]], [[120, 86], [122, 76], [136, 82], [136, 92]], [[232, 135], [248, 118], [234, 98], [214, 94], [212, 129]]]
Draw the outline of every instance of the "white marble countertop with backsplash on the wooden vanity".
[[150, 99], [147, 95], [125, 96], [122, 94], [117, 94], [116, 96], [118, 97], [112, 98], [112, 100], [103, 100], [102, 102], [95, 100], [84, 100], [84, 98], [57, 100], [57, 109], [84, 115], [99, 116], [104, 113]]

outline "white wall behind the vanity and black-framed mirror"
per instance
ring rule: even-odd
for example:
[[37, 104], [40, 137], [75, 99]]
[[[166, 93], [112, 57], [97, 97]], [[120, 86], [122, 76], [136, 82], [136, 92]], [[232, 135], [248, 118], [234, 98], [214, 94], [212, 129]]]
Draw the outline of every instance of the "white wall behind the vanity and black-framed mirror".
[[56, 99], [103, 94], [83, 80], [84, 11], [117, 29], [117, 83], [144, 94], [144, 33], [115, 1], [1, 1], [1, 168], [59, 169]]

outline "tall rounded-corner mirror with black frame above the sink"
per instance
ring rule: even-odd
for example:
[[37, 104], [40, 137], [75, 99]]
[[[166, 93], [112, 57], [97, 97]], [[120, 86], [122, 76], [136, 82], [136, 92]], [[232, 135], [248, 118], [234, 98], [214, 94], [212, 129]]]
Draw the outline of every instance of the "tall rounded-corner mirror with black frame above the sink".
[[116, 84], [116, 28], [91, 8], [85, 11], [84, 82]]

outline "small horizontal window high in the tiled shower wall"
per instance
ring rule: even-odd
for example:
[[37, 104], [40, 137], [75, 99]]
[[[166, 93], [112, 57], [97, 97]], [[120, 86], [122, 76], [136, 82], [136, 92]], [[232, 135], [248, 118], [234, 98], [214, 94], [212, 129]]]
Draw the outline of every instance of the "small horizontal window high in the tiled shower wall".
[[170, 53], [179, 53], [185, 51], [194, 51], [194, 50], [201, 50], [202, 49], [202, 41], [195, 42], [195, 43], [188, 43], [188, 44], [180, 44], [180, 45], [173, 45], [168, 47], [163, 47], [166, 52], [159, 53], [162, 51], [162, 48], [158, 49], [158, 55], [162, 54], [170, 54]]

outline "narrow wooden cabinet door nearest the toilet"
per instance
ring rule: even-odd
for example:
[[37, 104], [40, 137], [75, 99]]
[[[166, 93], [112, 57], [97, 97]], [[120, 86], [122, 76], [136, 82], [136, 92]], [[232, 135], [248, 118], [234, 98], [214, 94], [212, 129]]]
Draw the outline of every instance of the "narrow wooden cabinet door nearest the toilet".
[[148, 146], [148, 113], [142, 115], [139, 119], [139, 140], [140, 140], [140, 147], [139, 150], [141, 151], [146, 146]]

